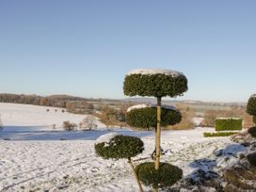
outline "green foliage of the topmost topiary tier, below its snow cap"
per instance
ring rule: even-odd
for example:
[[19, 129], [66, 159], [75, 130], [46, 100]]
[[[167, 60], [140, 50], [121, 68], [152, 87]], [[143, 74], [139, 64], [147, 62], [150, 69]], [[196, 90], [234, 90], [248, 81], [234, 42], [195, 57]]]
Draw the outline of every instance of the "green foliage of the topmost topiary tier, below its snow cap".
[[123, 92], [127, 96], [175, 97], [186, 90], [187, 79], [182, 74], [130, 74], [125, 76], [123, 83]]

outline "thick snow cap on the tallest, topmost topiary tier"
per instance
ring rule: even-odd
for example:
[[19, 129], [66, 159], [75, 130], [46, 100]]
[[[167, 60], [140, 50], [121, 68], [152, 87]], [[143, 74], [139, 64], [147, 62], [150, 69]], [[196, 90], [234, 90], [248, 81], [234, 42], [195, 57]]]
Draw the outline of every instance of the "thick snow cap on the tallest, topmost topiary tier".
[[126, 75], [131, 75], [131, 74], [165, 74], [165, 75], [171, 75], [171, 76], [179, 76], [179, 75], [184, 75], [182, 72], [176, 72], [172, 70], [163, 70], [163, 69], [136, 69], [131, 72], [128, 72]]

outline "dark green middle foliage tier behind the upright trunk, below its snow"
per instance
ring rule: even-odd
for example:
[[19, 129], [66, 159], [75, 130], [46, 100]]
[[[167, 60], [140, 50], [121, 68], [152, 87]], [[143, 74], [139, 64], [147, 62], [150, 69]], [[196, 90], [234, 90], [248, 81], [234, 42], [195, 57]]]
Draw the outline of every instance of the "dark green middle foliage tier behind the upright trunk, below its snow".
[[[126, 122], [136, 128], [150, 129], [157, 125], [156, 107], [133, 109], [126, 114]], [[161, 126], [174, 125], [182, 120], [182, 115], [174, 109], [162, 108]]]

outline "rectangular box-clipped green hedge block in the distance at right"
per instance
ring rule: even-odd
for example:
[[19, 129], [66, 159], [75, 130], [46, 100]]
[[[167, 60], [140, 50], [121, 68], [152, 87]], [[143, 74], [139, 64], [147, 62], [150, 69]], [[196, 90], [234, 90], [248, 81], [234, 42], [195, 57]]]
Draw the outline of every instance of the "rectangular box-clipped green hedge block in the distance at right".
[[216, 131], [242, 130], [243, 119], [216, 119]]

